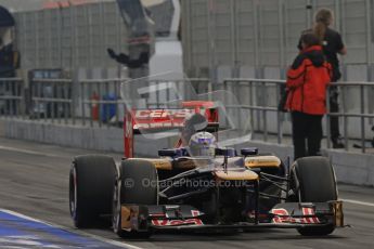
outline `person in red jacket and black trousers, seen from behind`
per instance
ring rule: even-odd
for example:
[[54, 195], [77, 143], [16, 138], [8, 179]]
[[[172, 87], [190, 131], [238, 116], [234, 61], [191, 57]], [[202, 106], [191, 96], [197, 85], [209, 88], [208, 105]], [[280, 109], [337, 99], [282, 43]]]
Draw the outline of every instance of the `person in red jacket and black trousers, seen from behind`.
[[312, 32], [301, 36], [302, 50], [287, 71], [286, 108], [292, 113], [295, 160], [320, 155], [322, 117], [326, 113], [326, 88], [332, 67], [319, 38]]

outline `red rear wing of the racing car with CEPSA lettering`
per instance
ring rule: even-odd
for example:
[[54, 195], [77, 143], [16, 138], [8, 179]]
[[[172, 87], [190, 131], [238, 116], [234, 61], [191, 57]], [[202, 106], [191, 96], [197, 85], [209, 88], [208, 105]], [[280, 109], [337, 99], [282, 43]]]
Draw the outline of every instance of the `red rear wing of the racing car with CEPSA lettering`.
[[[125, 157], [133, 157], [134, 134], [181, 129], [185, 119], [193, 114], [204, 115], [208, 127], [218, 128], [218, 108], [214, 102], [182, 102], [181, 108], [127, 109], [124, 118]], [[181, 140], [176, 147], [180, 145]]]

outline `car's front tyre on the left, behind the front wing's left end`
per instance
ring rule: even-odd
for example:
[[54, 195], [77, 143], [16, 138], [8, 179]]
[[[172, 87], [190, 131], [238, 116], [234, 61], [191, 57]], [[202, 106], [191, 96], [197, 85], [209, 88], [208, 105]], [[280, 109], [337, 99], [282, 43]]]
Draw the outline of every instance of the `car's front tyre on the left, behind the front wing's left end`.
[[121, 230], [121, 205], [157, 205], [157, 170], [152, 162], [128, 159], [121, 162], [113, 195], [113, 230], [119, 237], [149, 238], [152, 231]]

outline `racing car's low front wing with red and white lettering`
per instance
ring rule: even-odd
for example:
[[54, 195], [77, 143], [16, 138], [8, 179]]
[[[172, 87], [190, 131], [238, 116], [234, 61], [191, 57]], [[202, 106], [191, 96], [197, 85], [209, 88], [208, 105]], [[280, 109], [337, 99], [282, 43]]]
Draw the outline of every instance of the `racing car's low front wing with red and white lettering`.
[[243, 222], [204, 223], [204, 213], [188, 205], [121, 206], [121, 228], [153, 230], [232, 230], [232, 228], [297, 228], [306, 226], [344, 226], [341, 201], [284, 202], [275, 205], [268, 214], [254, 219], [248, 213]]

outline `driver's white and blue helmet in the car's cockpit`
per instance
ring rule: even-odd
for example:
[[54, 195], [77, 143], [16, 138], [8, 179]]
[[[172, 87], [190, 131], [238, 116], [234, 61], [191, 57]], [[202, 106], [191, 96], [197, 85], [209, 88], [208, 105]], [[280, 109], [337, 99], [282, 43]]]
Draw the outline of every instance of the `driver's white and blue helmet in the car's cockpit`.
[[190, 155], [195, 157], [214, 157], [216, 147], [216, 137], [205, 131], [193, 134], [189, 142]]

